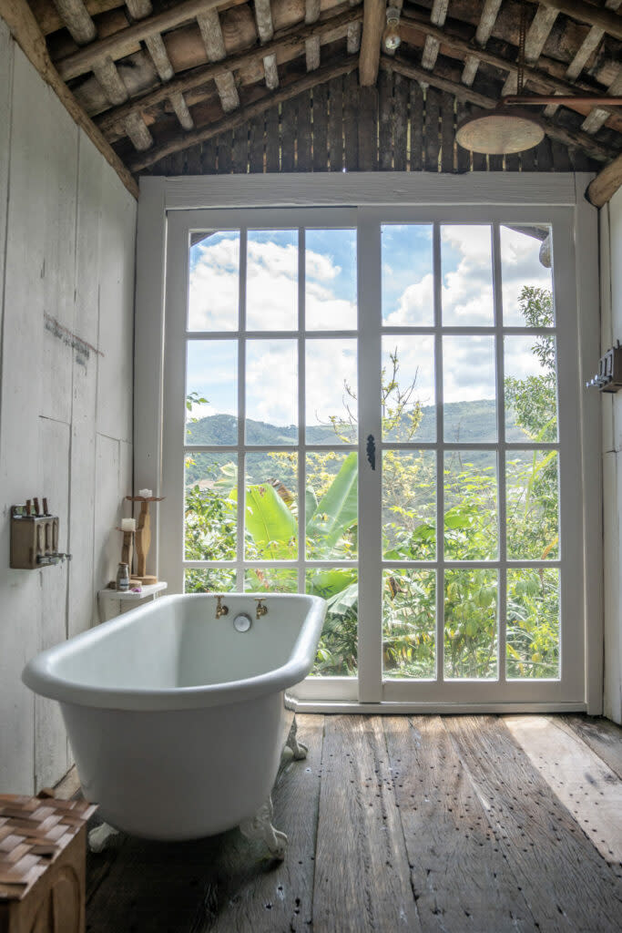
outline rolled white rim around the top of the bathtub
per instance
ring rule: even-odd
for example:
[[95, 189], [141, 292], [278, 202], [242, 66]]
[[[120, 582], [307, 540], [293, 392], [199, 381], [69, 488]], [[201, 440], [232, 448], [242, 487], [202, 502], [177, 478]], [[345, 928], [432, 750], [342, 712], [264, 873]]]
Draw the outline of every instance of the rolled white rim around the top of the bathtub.
[[[214, 595], [214, 593], [173, 593], [161, 596], [158, 603], [173, 605], [205, 597], [214, 598]], [[21, 672], [21, 680], [26, 687], [40, 696], [57, 700], [60, 703], [72, 703], [76, 706], [99, 709], [145, 712], [201, 709], [229, 703], [243, 703], [268, 693], [281, 692], [294, 687], [303, 680], [311, 671], [315, 660], [317, 642], [325, 619], [325, 599], [307, 593], [228, 592], [224, 595], [229, 598], [240, 596], [249, 601], [261, 598], [267, 602], [297, 596], [308, 605], [290, 657], [284, 664], [263, 674], [245, 677], [241, 680], [162, 689], [96, 687], [58, 675], [56, 665], [62, 661], [63, 657], [76, 654], [83, 645], [97, 643], [127, 628], [145, 614], [150, 614], [154, 611], [154, 604], [148, 604], [137, 606], [115, 619], [102, 622], [86, 632], [74, 635], [58, 645], [41, 651], [26, 664]]]

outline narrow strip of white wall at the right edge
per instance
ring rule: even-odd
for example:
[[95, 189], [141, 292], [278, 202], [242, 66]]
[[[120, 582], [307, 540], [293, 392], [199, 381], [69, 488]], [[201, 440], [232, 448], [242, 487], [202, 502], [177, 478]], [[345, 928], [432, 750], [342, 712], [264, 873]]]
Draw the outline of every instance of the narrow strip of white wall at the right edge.
[[[602, 352], [622, 341], [622, 189], [601, 209]], [[622, 723], [622, 393], [602, 399], [604, 703]]]

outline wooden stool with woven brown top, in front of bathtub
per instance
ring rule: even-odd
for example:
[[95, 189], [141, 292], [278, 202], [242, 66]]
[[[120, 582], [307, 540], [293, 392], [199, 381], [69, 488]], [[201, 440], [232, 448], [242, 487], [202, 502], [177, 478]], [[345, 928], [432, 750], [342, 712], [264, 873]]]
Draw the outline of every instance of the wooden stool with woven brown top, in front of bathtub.
[[0, 933], [84, 933], [86, 823], [96, 806], [0, 794]]

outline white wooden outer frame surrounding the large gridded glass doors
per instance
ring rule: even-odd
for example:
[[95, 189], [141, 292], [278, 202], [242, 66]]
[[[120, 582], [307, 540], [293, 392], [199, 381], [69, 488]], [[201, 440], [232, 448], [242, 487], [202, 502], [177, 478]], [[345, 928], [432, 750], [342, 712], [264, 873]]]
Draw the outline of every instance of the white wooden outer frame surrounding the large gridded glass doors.
[[[583, 610], [577, 616], [578, 622], [572, 635], [583, 642], [584, 661], [581, 670], [572, 672], [574, 687], [571, 698], [560, 699], [556, 684], [548, 682], [544, 693], [538, 689], [539, 696], [544, 699], [533, 703], [530, 701], [530, 684], [511, 681], [505, 685], [504, 702], [491, 702], [489, 684], [470, 682], [468, 689], [465, 689], [464, 682], [446, 682], [444, 685], [430, 684], [427, 691], [418, 690], [417, 703], [411, 703], [404, 702], [408, 684], [392, 681], [382, 694], [377, 688], [369, 686], [372, 680], [375, 684], [380, 683], [374, 675], [370, 677], [367, 687], [365, 683], [362, 684], [360, 698], [363, 703], [358, 703], [358, 698], [352, 696], [351, 681], [344, 678], [339, 687], [340, 678], [330, 678], [337, 689], [337, 692], [333, 689], [335, 702], [324, 702], [325, 692], [322, 684], [318, 683], [305, 693], [311, 703], [306, 708], [327, 710], [360, 707], [370, 712], [394, 709], [403, 712], [444, 709], [453, 712], [536, 709], [576, 709], [587, 710], [592, 714], [601, 712], [601, 413], [598, 394], [582, 388], [600, 355], [597, 212], [585, 202], [583, 196], [591, 177], [591, 174], [479, 173], [448, 176], [392, 173], [141, 179], [137, 247], [134, 480], [136, 488], [155, 487], [156, 494], [167, 493], [161, 486], [162, 463], [167, 455], [162, 446], [162, 411], [163, 405], [167, 404], [167, 397], [164, 397], [164, 359], [166, 355], [167, 383], [170, 378], [173, 381], [177, 378], [171, 372], [169, 360], [173, 359], [175, 353], [183, 359], [183, 351], [174, 345], [173, 334], [166, 332], [164, 313], [167, 230], [169, 221], [173, 226], [183, 223], [177, 212], [207, 208], [211, 213], [214, 208], [231, 210], [238, 207], [283, 206], [319, 208], [318, 214], [321, 215], [322, 207], [360, 208], [363, 224], [359, 232], [359, 249], [362, 251], [366, 250], [366, 236], [369, 238], [369, 249], [376, 249], [372, 241], [375, 235], [373, 229], [378, 229], [377, 218], [385, 221], [408, 219], [413, 222], [418, 219], [447, 222], [497, 220], [517, 224], [553, 222], [558, 230], [555, 243], [556, 303], [559, 309], [576, 309], [572, 327], [560, 327], [558, 335], [560, 385], [565, 386], [565, 391], [575, 392], [575, 405], [567, 404], [566, 413], [573, 409], [578, 411], [578, 423], [560, 423], [560, 435], [574, 432], [574, 488], [583, 491], [578, 534], [573, 542], [566, 542], [569, 560], [572, 558], [571, 563], [579, 569], [573, 584], [574, 605]], [[366, 221], [369, 223], [368, 234], [365, 233]], [[560, 246], [561, 241], [564, 241], [563, 246]], [[574, 255], [580, 257], [581, 261], [575, 262]], [[185, 266], [186, 262], [187, 258]], [[571, 270], [570, 275], [567, 274], [568, 270]], [[154, 271], [157, 273], [154, 274]], [[360, 296], [361, 299], [363, 296]], [[368, 296], [365, 300], [379, 299], [380, 284], [378, 296]], [[574, 311], [571, 313], [574, 314]], [[576, 367], [576, 351], [572, 356], [564, 354], [565, 335], [578, 348]], [[360, 337], [360, 353], [365, 353], [362, 332]], [[561, 372], [564, 367], [569, 370], [565, 375]], [[564, 417], [563, 409], [560, 418]], [[367, 431], [367, 426], [363, 424], [365, 421], [366, 413], [362, 412], [362, 430]], [[380, 437], [380, 430], [370, 433]], [[177, 449], [178, 456], [179, 453]], [[366, 470], [362, 468], [361, 497], [365, 495], [366, 475]], [[562, 501], [563, 495], [560, 490]], [[166, 506], [162, 510], [165, 512]], [[168, 549], [162, 546], [159, 536], [159, 524], [155, 522], [155, 547], [150, 555], [150, 571], [156, 572], [159, 567], [161, 574], [166, 573], [169, 562], [165, 556]], [[573, 549], [574, 555], [570, 553]], [[178, 592], [177, 581], [173, 580], [171, 589]], [[362, 640], [359, 644], [359, 664], [369, 672], [373, 671], [374, 664], [380, 664], [376, 635], [369, 634], [367, 641]], [[442, 694], [437, 690], [439, 687], [443, 688]], [[315, 702], [313, 691], [316, 693]]]

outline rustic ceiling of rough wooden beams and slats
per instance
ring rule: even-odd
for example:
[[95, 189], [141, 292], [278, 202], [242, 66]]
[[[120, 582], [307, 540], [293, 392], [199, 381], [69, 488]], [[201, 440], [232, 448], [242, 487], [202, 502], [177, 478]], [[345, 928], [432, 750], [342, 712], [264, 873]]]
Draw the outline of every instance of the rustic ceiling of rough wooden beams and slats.
[[[0, 0], [0, 12], [20, 2]], [[620, 95], [621, 2], [528, 0], [526, 90]], [[428, 87], [443, 92], [455, 103], [452, 124], [461, 107], [491, 108], [502, 94], [516, 92], [518, 0], [394, 0], [390, 6], [402, 7], [402, 45], [394, 56], [380, 49], [385, 0], [30, 2], [51, 63], [133, 174], [223, 138], [270, 108], [286, 112], [290, 99], [311, 106], [313, 89], [335, 87], [347, 75], [357, 75], [364, 88], [378, 87], [379, 76], [389, 74], [424, 93]], [[594, 164], [622, 148], [619, 107], [533, 110], [550, 141]], [[319, 118], [313, 118], [318, 129]], [[408, 120], [412, 129], [410, 111]], [[283, 129], [283, 117], [280, 123]], [[441, 139], [442, 132], [439, 121]], [[447, 170], [456, 167], [454, 157]]]

